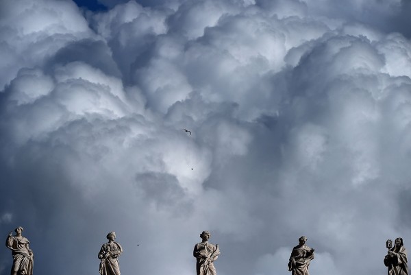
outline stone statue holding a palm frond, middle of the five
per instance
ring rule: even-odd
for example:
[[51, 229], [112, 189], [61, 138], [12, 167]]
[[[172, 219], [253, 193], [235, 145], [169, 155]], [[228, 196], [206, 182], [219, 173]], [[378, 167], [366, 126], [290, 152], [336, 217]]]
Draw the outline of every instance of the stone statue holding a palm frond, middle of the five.
[[197, 275], [216, 275], [216, 267], [213, 262], [219, 257], [219, 245], [208, 243], [210, 239], [210, 232], [203, 231], [200, 234], [201, 243], [197, 243], [194, 247], [192, 255], [197, 259]]

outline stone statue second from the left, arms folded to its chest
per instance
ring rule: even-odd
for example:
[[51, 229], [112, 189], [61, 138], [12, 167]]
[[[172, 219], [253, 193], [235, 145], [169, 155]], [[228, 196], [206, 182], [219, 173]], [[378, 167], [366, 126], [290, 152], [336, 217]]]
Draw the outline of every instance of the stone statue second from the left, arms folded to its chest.
[[114, 241], [116, 239], [116, 232], [108, 233], [107, 239], [108, 243], [104, 243], [99, 252], [99, 259], [101, 260], [100, 274], [120, 275], [119, 260], [117, 258], [123, 253], [123, 248]]

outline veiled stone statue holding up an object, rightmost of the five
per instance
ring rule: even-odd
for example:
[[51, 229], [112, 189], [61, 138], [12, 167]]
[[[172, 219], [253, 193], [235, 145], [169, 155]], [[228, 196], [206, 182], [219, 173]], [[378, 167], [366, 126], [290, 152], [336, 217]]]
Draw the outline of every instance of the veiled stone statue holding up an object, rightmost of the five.
[[390, 239], [387, 241], [388, 253], [384, 258], [384, 265], [388, 267], [388, 275], [407, 275], [407, 250], [402, 238], [395, 239], [395, 246]]

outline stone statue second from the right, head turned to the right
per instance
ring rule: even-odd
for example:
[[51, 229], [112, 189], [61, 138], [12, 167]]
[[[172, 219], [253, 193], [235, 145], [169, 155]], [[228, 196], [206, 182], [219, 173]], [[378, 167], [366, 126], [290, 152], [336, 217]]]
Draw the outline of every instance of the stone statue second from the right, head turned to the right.
[[308, 266], [310, 261], [314, 259], [314, 249], [306, 245], [306, 236], [301, 236], [298, 241], [298, 246], [292, 248], [288, 271], [292, 272], [292, 275], [310, 275]]

